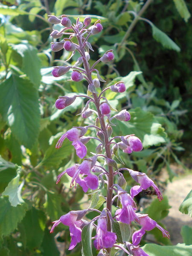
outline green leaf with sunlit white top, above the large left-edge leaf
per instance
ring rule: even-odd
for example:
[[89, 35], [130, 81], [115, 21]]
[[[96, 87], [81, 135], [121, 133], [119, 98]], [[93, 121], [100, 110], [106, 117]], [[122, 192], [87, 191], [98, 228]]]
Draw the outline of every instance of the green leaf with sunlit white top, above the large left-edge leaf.
[[35, 88], [38, 89], [41, 83], [41, 61], [38, 51], [30, 44], [17, 44], [13, 47], [23, 57], [22, 71], [29, 77]]

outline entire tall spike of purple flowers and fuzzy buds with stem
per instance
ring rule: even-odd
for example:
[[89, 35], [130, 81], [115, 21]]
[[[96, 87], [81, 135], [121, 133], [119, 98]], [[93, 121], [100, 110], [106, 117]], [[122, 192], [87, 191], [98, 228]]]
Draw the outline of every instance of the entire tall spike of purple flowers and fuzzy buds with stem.
[[[69, 250], [72, 250], [76, 244], [81, 241], [84, 227], [90, 225], [89, 227], [93, 226], [96, 228], [96, 235], [92, 239], [94, 239], [94, 246], [99, 250], [98, 255], [110, 255], [111, 247], [118, 247], [127, 252], [128, 255], [147, 256], [148, 254], [145, 253], [139, 245], [145, 232], [157, 227], [162, 231], [163, 236], [167, 238], [169, 238], [169, 233], [164, 230], [163, 227], [160, 227], [160, 225], [152, 220], [147, 214], [140, 214], [137, 212], [137, 205], [134, 201], [134, 197], [148, 187], [154, 188], [159, 201], [163, 199], [163, 196], [158, 187], [145, 173], [128, 168], [118, 169], [117, 163], [113, 159], [114, 155], [119, 151], [119, 148], [125, 154], [131, 154], [133, 151], [138, 152], [143, 149], [141, 140], [136, 137], [135, 134], [112, 137], [113, 129], [111, 128], [111, 120], [116, 119], [120, 122], [128, 122], [131, 119], [131, 115], [126, 109], [113, 114], [112, 111], [114, 111], [114, 109], [105, 97], [105, 92], [111, 90], [115, 93], [124, 93], [126, 91], [125, 83], [123, 81], [118, 81], [113, 85], [105, 87], [102, 91], [99, 89], [98, 91], [100, 93], [97, 92], [97, 88], [100, 87], [100, 82], [104, 83], [105, 80], [99, 76], [99, 71], [95, 68], [96, 64], [100, 61], [103, 62], [103, 64], [113, 61], [113, 50], [105, 52], [104, 55], [90, 67], [88, 62], [90, 60], [89, 52], [90, 50], [93, 51], [93, 48], [88, 42], [88, 39], [90, 36], [102, 32], [103, 27], [100, 20], [97, 20], [91, 25], [90, 17], [85, 17], [83, 23], [80, 22], [78, 18], [76, 24], [72, 25], [70, 19], [66, 15], [62, 15], [61, 19], [58, 19], [54, 15], [49, 15], [49, 22], [52, 24], [61, 23], [61, 26], [63, 26], [61, 31], [53, 30], [51, 33], [53, 39], [58, 40], [62, 37], [61, 41], [52, 42], [52, 50], [54, 52], [60, 50], [72, 52], [70, 58], [75, 52], [79, 52], [80, 54], [80, 57], [73, 66], [67, 66], [67, 60], [66, 65], [53, 67], [52, 75], [55, 77], [63, 76], [71, 69], [72, 81], [79, 82], [84, 79], [88, 84], [87, 96], [80, 94], [75, 96], [61, 96], [56, 100], [55, 107], [61, 110], [71, 105], [77, 97], [85, 97], [87, 98], [87, 102], [81, 112], [81, 116], [85, 119], [95, 115], [96, 119], [95, 124], [93, 125], [73, 127], [70, 130], [65, 131], [58, 140], [56, 148], [61, 148], [66, 138], [70, 140], [76, 150], [76, 155], [82, 160], [81, 163], [75, 163], [73, 166], [64, 170], [64, 172], [61, 172], [57, 177], [56, 183], [60, 182], [63, 175], [69, 175], [71, 177], [70, 186], [72, 187], [75, 185], [76, 187], [76, 184], [79, 184], [85, 193], [89, 189], [98, 192], [103, 186], [106, 186], [107, 188], [107, 197], [103, 197], [106, 199], [106, 207], [103, 208], [102, 212], [97, 208], [70, 211], [61, 216], [59, 220], [53, 222], [50, 232], [53, 232], [55, 227], [60, 223], [69, 226], [71, 236]], [[68, 37], [65, 38], [65, 35]], [[73, 38], [76, 40], [73, 40]], [[83, 64], [83, 67], [81, 67], [81, 64]], [[97, 74], [97, 78], [92, 78], [93, 72]], [[95, 105], [95, 108], [91, 108], [93, 104]], [[92, 129], [92, 131], [94, 129], [96, 131], [96, 137], [86, 135], [89, 129]], [[98, 143], [96, 146], [96, 154], [93, 153], [93, 157], [85, 158], [87, 155], [87, 147], [85, 144], [90, 140], [96, 140]], [[104, 150], [105, 152], [103, 153]], [[99, 163], [101, 158], [98, 160], [98, 157], [103, 158], [103, 165]], [[125, 182], [123, 186], [121, 182], [118, 182], [118, 184], [113, 183], [115, 176], [119, 177], [119, 179], [124, 179], [122, 171], [129, 172], [130, 176], [140, 184], [133, 186], [130, 190], [130, 194], [125, 190]], [[101, 184], [100, 187], [99, 183]], [[116, 198], [117, 209], [115, 215], [112, 216], [112, 203], [115, 202]], [[88, 222], [83, 218], [90, 210], [96, 211], [98, 215]], [[131, 222], [136, 222], [137, 225], [139, 224], [141, 226], [140, 230], [133, 233], [132, 243], [130, 241], [122, 241], [122, 236], [119, 235], [118, 232], [116, 233], [117, 226], [120, 230], [120, 222], [125, 225], [130, 225]], [[91, 237], [92, 229], [90, 228], [89, 230]], [[122, 246], [122, 243], [127, 246], [127, 249]]]

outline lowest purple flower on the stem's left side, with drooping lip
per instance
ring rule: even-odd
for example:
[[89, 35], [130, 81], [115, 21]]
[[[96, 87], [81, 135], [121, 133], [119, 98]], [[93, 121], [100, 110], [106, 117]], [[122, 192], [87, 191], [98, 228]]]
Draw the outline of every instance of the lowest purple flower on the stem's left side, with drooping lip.
[[[79, 212], [79, 211], [77, 211]], [[58, 226], [58, 224], [63, 223], [66, 226], [69, 226], [70, 229], [70, 236], [71, 236], [71, 243], [69, 250], [72, 250], [77, 243], [81, 241], [81, 226], [84, 224], [83, 221], [78, 220], [78, 214], [75, 211], [68, 212], [65, 215], [62, 215], [58, 221], [53, 221], [53, 226], [50, 230], [50, 233], [53, 232], [54, 228]]]

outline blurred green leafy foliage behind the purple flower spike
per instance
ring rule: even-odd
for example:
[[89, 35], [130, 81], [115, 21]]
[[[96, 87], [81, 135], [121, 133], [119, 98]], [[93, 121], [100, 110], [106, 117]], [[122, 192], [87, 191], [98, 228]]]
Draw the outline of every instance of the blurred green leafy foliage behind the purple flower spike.
[[[176, 161], [183, 166], [179, 159], [191, 150], [187, 142], [192, 128], [192, 25], [187, 22], [190, 18], [187, 6], [190, 9], [192, 4], [186, 5], [183, 0], [153, 1], [142, 15], [144, 19], [138, 20], [129, 32], [133, 12], [140, 11], [142, 1], [1, 2], [0, 255], [57, 256], [54, 235], [49, 234], [51, 222], [70, 210], [83, 209], [84, 200], [90, 204], [91, 196], [84, 198], [81, 187], [71, 190], [67, 177], [62, 178], [64, 185], [55, 185], [57, 175], [78, 161], [70, 142], [66, 141], [59, 150], [55, 144], [72, 126], [84, 125], [76, 115], [84, 102], [77, 98], [75, 104], [62, 111], [56, 110], [54, 103], [58, 96], [86, 93], [87, 89], [82, 81], [78, 84], [67, 81], [70, 72], [59, 78], [51, 75], [52, 66], [61, 65], [68, 53], [51, 52], [52, 24], [48, 23], [47, 15], [66, 14], [71, 19], [83, 20], [91, 14], [93, 23], [100, 18], [104, 30], [101, 35], [90, 38], [94, 49], [91, 58], [96, 60], [98, 55], [113, 49], [115, 61], [108, 65], [100, 63], [97, 68], [107, 83], [113, 84], [119, 77], [125, 81], [125, 93], [111, 92], [105, 96], [113, 108], [127, 108], [131, 113], [128, 124], [119, 125], [114, 121], [114, 135], [119, 135], [119, 131], [122, 135], [134, 133], [144, 145], [142, 152], [126, 157], [120, 153], [120, 157], [127, 167], [150, 176], [157, 175], [166, 166], [172, 180], [175, 173], [170, 163]], [[54, 28], [60, 29], [59, 25]], [[76, 56], [72, 62], [75, 60]], [[88, 122], [94, 119], [90, 117]], [[93, 142], [87, 145], [88, 151], [94, 147]], [[190, 212], [190, 198], [183, 206], [184, 212]], [[97, 204], [95, 207], [103, 207], [100, 201]], [[159, 211], [150, 212], [149, 207], [145, 212], [154, 213], [151, 217], [156, 221], [168, 214], [166, 200], [160, 208], [154, 201], [154, 207]], [[93, 217], [93, 213], [89, 215]], [[58, 226], [57, 231], [58, 241], [66, 243], [67, 255], [68, 227]], [[182, 232], [184, 239], [190, 230], [183, 228]], [[154, 236], [160, 244], [169, 244], [160, 240], [158, 232]], [[146, 244], [146, 252], [156, 250], [153, 246], [157, 247]], [[79, 255], [80, 247], [79, 244], [70, 255]], [[169, 248], [162, 250], [169, 254]], [[158, 249], [154, 255], [158, 255]]]

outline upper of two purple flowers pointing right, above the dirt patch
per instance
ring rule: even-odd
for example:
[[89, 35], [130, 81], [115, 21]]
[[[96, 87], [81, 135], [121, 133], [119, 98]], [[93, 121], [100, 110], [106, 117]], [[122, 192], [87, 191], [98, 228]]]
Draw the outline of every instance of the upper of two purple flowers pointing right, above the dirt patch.
[[154, 184], [153, 180], [151, 180], [145, 173], [137, 172], [131, 169], [129, 169], [129, 173], [136, 182], [140, 183], [140, 186], [136, 185], [131, 188], [130, 194], [132, 198], [134, 198], [135, 195], [139, 194], [142, 189], [148, 189], [150, 186], [152, 186], [157, 193], [157, 198], [159, 199], [159, 201], [163, 200], [163, 196], [160, 190]]

